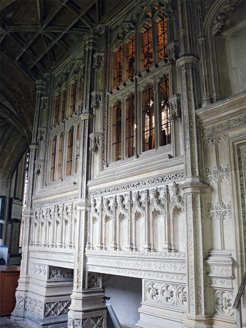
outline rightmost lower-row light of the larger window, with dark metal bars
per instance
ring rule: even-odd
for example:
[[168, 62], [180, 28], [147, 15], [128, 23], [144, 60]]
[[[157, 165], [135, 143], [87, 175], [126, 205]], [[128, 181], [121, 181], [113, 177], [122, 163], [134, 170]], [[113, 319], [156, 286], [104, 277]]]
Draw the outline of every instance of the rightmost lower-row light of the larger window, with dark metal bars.
[[[162, 132], [162, 146], [171, 143], [171, 121], [170, 121], [170, 106], [168, 102], [168, 76], [163, 78], [162, 82], [159, 83], [160, 88], [164, 90], [165, 97], [161, 97], [161, 130]], [[164, 132], [165, 131], [165, 132]]]

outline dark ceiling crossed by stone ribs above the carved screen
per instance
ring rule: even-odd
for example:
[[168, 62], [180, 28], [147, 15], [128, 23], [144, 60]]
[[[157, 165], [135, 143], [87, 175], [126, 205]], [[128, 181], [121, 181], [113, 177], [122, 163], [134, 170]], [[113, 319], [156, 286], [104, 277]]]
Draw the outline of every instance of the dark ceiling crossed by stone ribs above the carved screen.
[[127, 3], [129, 0], [2, 1], [1, 51], [35, 79], [58, 66], [88, 31]]

